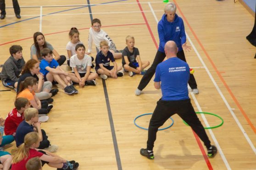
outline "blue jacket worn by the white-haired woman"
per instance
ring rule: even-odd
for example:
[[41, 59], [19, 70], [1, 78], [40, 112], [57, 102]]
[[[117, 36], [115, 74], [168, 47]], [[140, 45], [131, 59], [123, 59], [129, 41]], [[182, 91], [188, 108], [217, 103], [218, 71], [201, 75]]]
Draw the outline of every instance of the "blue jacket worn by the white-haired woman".
[[183, 50], [182, 44], [186, 43], [186, 34], [184, 22], [181, 17], [175, 14], [173, 22], [169, 22], [166, 19], [166, 14], [164, 14], [158, 22], [157, 30], [160, 40], [158, 51], [164, 53], [165, 43], [170, 40], [177, 44], [178, 51]]

